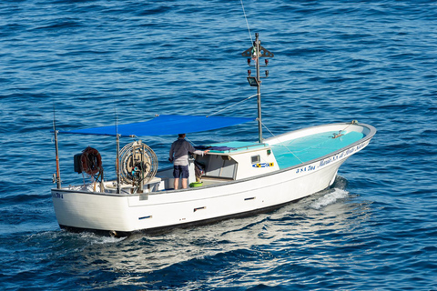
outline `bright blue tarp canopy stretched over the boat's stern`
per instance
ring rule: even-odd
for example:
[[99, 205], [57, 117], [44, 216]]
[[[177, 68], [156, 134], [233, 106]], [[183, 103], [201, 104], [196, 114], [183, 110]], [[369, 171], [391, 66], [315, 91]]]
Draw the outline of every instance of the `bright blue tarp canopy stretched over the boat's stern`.
[[78, 129], [72, 131], [59, 131], [60, 134], [80, 135], [178, 135], [189, 134], [211, 129], [239, 125], [253, 118], [198, 116], [198, 115], [158, 115], [154, 119], [128, 125], [116, 125]]

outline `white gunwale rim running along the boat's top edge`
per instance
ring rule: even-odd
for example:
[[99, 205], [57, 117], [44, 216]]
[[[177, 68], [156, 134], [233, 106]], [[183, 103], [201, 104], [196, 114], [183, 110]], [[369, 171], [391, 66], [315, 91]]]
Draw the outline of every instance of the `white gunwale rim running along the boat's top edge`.
[[[269, 173], [266, 173], [266, 174], [261, 174], [259, 176], [249, 176], [249, 177], [246, 177], [246, 178], [243, 178], [243, 179], [240, 179], [240, 180], [231, 180], [229, 182], [223, 182], [223, 183], [219, 183], [219, 184], [213, 184], [213, 185], [201, 186], [201, 187], [192, 187], [192, 188], [187, 188], [187, 189], [155, 191], [155, 192], [150, 192], [150, 193], [136, 193], [136, 194], [121, 194], [121, 193], [117, 194], [117, 193], [90, 192], [90, 191], [81, 191], [81, 190], [73, 190], [73, 189], [66, 189], [66, 188], [64, 188], [64, 189], [63, 188], [61, 188], [61, 189], [52, 188], [51, 190], [52, 190], [52, 193], [55, 191], [55, 192], [82, 193], [82, 194], [97, 195], [97, 196], [134, 197], [134, 196], [149, 196], [149, 195], [155, 196], [155, 195], [163, 195], [163, 194], [183, 193], [183, 192], [188, 192], [188, 191], [204, 190], [204, 189], [208, 189], [208, 188], [212, 188], [212, 187], [229, 186], [229, 185], [232, 185], [232, 184], [244, 183], [244, 182], [247, 182], [247, 181], [263, 178], [263, 177], [266, 177], [266, 176], [273, 176], [273, 175], [277, 175], [279, 173], [288, 172], [288, 171], [294, 170], [296, 168], [299, 168], [299, 167], [302, 167], [302, 166], [308, 166], [308, 165], [310, 165], [312, 163], [316, 163], [316, 162], [318, 162], [320, 160], [324, 160], [324, 159], [326, 159], [329, 156], [335, 156], [335, 155], [339, 154], [340, 152], [343, 152], [343, 151], [345, 151], [345, 150], [347, 150], [347, 149], [349, 149], [349, 148], [351, 148], [353, 146], [357, 146], [357, 145], [363, 144], [363, 143], [365, 143], [367, 141], [370, 141], [371, 138], [373, 137], [373, 135], [375, 135], [376, 131], [377, 131], [376, 128], [373, 127], [372, 125], [367, 125], [367, 124], [351, 124], [351, 123], [337, 123], [337, 124], [316, 125], [316, 126], [301, 128], [301, 129], [294, 130], [294, 131], [289, 132], [289, 133], [285, 133], [285, 134], [282, 134], [282, 135], [276, 135], [274, 137], [270, 137], [269, 139], [278, 138], [278, 137], [283, 136], [283, 135], [290, 135], [292, 133], [299, 133], [299, 132], [302, 132], [302, 131], [310, 130], [311, 128], [320, 128], [320, 127], [326, 127], [326, 126], [331, 126], [331, 125], [359, 125], [359, 126], [367, 127], [370, 130], [370, 132], [369, 132], [368, 135], [363, 136], [360, 140], [352, 143], [351, 145], [341, 147], [340, 149], [336, 150], [335, 152], [331, 152], [330, 154], [327, 154], [325, 156], [320, 156], [318, 158], [312, 159], [312, 160], [310, 160], [310, 161], [308, 161], [306, 163], [298, 164], [298, 165], [295, 165], [295, 166], [289, 166], [289, 167], [286, 167], [284, 169], [279, 169], [279, 170], [276, 170], [276, 171], [273, 171], [273, 172], [269, 172]], [[264, 141], [266, 141], [266, 140], [264, 140]], [[229, 156], [231, 156], [231, 155], [229, 155]], [[306, 175], [310, 175], [310, 174], [306, 174]]]

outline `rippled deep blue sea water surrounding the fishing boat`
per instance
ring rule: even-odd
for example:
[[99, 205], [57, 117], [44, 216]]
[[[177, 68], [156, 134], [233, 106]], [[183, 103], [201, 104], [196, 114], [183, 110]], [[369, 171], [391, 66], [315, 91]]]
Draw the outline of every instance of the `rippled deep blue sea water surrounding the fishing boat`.
[[[56, 223], [50, 130], [208, 115], [254, 95], [240, 1], [0, 3], [0, 286], [5, 290], [437, 290], [437, 3], [244, 1], [275, 54], [263, 123], [277, 135], [353, 119], [378, 129], [334, 187], [279, 210], [162, 236]], [[223, 115], [251, 117], [250, 99]], [[188, 137], [256, 141], [256, 124]], [[265, 130], [265, 135], [269, 132]], [[173, 136], [144, 138], [162, 166]], [[123, 141], [129, 142], [128, 140]], [[64, 184], [86, 146], [60, 135]], [[112, 171], [112, 172], [111, 172]], [[273, 194], [272, 194], [273, 195]]]

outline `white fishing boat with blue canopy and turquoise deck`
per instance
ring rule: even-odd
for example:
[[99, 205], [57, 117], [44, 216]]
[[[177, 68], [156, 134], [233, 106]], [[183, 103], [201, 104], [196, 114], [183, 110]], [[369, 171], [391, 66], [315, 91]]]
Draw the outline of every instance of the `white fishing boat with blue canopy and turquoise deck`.
[[[51, 190], [56, 219], [67, 231], [91, 231], [108, 236], [159, 234], [174, 227], [198, 226], [227, 218], [269, 212], [334, 183], [341, 164], [367, 146], [376, 129], [356, 121], [318, 125], [262, 136], [260, 59], [274, 55], [260, 45], [259, 35], [243, 54], [254, 66], [247, 76], [258, 87], [258, 117], [158, 115], [134, 124], [59, 131], [56, 144], [56, 188]], [[252, 65], [252, 60], [254, 64]], [[158, 168], [155, 152], [138, 136], [177, 135], [258, 122], [258, 140], [203, 145], [207, 155], [189, 158], [188, 188], [174, 187], [173, 167]], [[73, 157], [77, 173], [91, 182], [62, 186], [59, 134], [112, 135], [117, 147], [116, 176], [104, 178], [97, 149]], [[121, 138], [133, 139], [120, 149]], [[167, 158], [164, 157], [164, 158]]]

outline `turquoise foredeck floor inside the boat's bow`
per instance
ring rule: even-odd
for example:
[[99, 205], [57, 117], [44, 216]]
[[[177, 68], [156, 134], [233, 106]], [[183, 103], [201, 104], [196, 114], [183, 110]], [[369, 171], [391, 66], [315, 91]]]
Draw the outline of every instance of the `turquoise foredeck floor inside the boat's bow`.
[[363, 136], [362, 133], [352, 131], [333, 138], [332, 132], [325, 132], [291, 139], [271, 146], [271, 150], [276, 157], [279, 168], [284, 169], [333, 153], [344, 146], [359, 141]]

